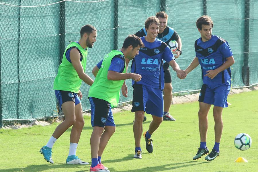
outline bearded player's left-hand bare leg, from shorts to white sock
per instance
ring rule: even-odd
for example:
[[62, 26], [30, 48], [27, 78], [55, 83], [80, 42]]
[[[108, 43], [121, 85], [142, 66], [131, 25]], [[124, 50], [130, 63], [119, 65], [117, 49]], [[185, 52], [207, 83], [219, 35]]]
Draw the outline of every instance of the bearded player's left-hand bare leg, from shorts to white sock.
[[73, 101], [67, 101], [62, 104], [62, 110], [64, 112], [65, 120], [59, 124], [52, 136], [59, 138], [69, 127], [75, 123], [75, 103]]

